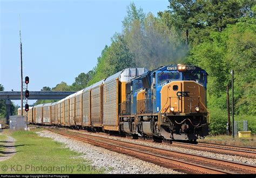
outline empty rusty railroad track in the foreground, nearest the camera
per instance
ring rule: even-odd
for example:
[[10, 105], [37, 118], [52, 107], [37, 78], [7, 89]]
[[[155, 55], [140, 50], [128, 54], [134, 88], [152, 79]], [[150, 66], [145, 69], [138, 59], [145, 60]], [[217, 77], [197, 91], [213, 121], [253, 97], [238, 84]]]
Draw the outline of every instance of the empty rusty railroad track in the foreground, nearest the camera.
[[188, 174], [256, 174], [254, 165], [185, 154], [63, 129], [49, 129], [49, 131]]

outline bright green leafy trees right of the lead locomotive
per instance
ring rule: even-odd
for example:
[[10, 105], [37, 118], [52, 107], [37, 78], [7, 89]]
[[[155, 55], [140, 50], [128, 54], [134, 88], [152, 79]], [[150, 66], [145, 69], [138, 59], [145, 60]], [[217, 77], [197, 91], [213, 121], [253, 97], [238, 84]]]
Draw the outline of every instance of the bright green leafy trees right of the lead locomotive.
[[[203, 43], [191, 50], [187, 63], [200, 66], [209, 74], [207, 98], [210, 111], [226, 109], [226, 86], [230, 83], [230, 71], [233, 69], [235, 114], [246, 117], [256, 114], [255, 24], [255, 18], [240, 18], [236, 24], [227, 25], [221, 33], [211, 32]], [[213, 124], [215, 119], [226, 121], [226, 117], [221, 117], [218, 112], [211, 115]], [[214, 126], [212, 128], [215, 129]]]

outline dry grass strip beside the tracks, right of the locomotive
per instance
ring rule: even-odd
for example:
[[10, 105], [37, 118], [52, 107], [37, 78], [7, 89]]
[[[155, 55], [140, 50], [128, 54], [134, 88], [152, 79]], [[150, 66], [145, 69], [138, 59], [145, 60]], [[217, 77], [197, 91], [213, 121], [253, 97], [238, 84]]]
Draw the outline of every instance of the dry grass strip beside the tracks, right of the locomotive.
[[234, 139], [232, 138], [232, 136], [227, 135], [206, 136], [205, 139], [198, 139], [198, 141], [207, 143], [218, 143], [223, 145], [256, 147], [256, 136], [252, 136], [251, 138], [235, 137]]

